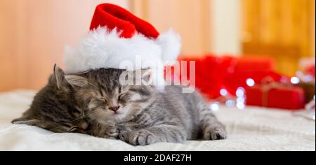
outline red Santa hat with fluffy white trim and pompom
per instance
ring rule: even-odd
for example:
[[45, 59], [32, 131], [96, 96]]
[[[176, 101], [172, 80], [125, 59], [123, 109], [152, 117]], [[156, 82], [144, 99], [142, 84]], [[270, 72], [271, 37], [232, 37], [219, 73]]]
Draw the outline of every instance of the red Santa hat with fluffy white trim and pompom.
[[128, 10], [104, 3], [96, 7], [90, 31], [77, 48], [66, 48], [65, 72], [125, 69], [121, 62], [130, 62], [133, 70], [152, 69], [153, 84], [162, 85], [164, 66], [157, 62], [173, 62], [179, 52], [178, 34], [171, 30], [159, 34], [150, 23]]

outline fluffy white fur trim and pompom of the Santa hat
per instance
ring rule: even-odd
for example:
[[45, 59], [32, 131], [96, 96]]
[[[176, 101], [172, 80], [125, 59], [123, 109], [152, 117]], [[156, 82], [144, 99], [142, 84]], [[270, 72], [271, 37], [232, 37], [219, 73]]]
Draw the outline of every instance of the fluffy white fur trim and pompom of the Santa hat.
[[[164, 67], [154, 62], [175, 61], [180, 52], [180, 36], [173, 31], [168, 31], [157, 39], [147, 38], [142, 34], [121, 38], [119, 34], [117, 29], [110, 31], [99, 27], [82, 38], [77, 48], [66, 47], [65, 72], [81, 73], [101, 68], [126, 69], [121, 68], [121, 62], [127, 61], [133, 64], [133, 70], [157, 70], [157, 78], [163, 80]], [[136, 57], [140, 57], [141, 65], [137, 65]]]

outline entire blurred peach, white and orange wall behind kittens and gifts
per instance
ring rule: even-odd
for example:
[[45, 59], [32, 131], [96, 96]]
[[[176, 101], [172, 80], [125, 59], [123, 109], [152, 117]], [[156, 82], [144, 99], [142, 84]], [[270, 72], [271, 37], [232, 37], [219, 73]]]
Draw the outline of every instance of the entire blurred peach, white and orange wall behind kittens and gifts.
[[287, 76], [315, 63], [315, 0], [1, 0], [0, 91], [43, 87], [103, 2], [172, 27], [183, 57], [265, 56]]

